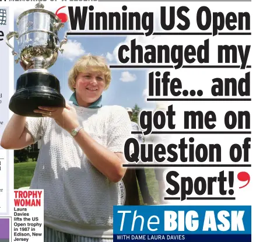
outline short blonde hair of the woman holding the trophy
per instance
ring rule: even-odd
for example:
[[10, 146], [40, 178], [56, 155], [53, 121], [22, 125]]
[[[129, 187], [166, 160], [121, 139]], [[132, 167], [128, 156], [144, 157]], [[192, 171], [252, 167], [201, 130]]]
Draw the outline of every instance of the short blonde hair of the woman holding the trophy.
[[85, 72], [88, 68], [92, 69], [92, 71], [98, 71], [104, 74], [106, 83], [104, 90], [107, 90], [111, 81], [111, 72], [106, 59], [104, 57], [88, 54], [78, 59], [71, 71], [69, 71], [68, 86], [72, 92], [75, 92], [75, 88], [73, 86], [76, 83], [76, 78], [79, 72]]

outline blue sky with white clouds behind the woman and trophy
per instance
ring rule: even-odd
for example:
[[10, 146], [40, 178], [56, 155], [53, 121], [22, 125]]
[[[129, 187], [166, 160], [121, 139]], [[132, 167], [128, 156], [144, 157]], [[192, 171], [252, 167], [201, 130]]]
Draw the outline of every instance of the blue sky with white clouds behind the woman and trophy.
[[[68, 30], [68, 24], [62, 30], [59, 30], [59, 40], [64, 37], [65, 31]], [[15, 30], [16, 19], [15, 19]], [[69, 99], [72, 92], [68, 87], [68, 72], [75, 61], [81, 54], [91, 53], [93, 55], [104, 55], [113, 53], [118, 44], [125, 41], [122, 37], [104, 37], [104, 36], [68, 36], [67, 50], [62, 55], [59, 52], [57, 61], [48, 69], [52, 74], [57, 76], [61, 84], [61, 93], [65, 99]], [[15, 40], [15, 50], [18, 51], [17, 41]], [[15, 57], [16, 59], [16, 57]], [[108, 59], [107, 59], [108, 60]], [[110, 62], [109, 62], [110, 64]], [[19, 64], [14, 63], [14, 79], [16, 80], [23, 73]], [[124, 75], [124, 72], [127, 75]], [[143, 97], [143, 90], [146, 89], [146, 69], [111, 69], [112, 80], [107, 91], [103, 92], [103, 105], [120, 105], [123, 107], [134, 107], [135, 103], [141, 108], [154, 108], [155, 104], [146, 103]], [[121, 76], [125, 77], [126, 82], [120, 80]], [[133, 80], [133, 81], [131, 81]]]

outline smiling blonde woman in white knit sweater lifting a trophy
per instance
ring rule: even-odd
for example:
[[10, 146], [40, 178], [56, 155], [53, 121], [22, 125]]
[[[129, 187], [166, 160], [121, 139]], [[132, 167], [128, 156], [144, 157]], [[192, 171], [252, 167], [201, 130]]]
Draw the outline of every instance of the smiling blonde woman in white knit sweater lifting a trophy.
[[45, 242], [113, 240], [131, 123], [125, 108], [101, 105], [110, 80], [104, 58], [86, 55], [69, 73], [65, 107], [38, 107], [42, 117], [13, 114], [3, 133], [5, 149], [41, 141], [30, 189], [44, 190]]

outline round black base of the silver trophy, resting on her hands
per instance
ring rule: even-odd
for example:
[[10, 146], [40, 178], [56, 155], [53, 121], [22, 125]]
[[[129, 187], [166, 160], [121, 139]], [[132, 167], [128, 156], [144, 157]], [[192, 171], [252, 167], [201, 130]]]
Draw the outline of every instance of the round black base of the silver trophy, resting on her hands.
[[29, 69], [17, 79], [9, 109], [24, 117], [42, 117], [34, 113], [38, 106], [65, 107], [65, 99], [54, 75], [46, 69]]

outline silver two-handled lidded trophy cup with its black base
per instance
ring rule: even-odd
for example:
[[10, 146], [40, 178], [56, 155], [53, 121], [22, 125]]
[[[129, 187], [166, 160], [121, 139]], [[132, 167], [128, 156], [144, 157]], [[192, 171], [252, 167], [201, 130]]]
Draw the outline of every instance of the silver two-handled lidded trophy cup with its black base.
[[[38, 106], [65, 107], [59, 80], [47, 70], [57, 60], [58, 51], [63, 52], [62, 44], [67, 41], [66, 36], [62, 41], [58, 38], [64, 23], [39, 2], [35, 9], [26, 10], [17, 18], [17, 27], [18, 32], [6, 35], [6, 44], [12, 48], [12, 54], [17, 55], [16, 63], [22, 61], [33, 65], [33, 69], [28, 69], [17, 79], [10, 110], [26, 117], [38, 117], [41, 114], [33, 112]], [[12, 37], [17, 40], [19, 52], [15, 52], [9, 43]]]

